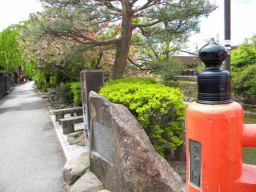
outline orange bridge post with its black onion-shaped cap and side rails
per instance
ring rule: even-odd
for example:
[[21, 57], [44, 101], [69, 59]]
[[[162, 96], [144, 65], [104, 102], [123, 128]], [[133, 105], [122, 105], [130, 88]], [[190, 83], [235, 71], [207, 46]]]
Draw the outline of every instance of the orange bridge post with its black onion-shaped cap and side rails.
[[231, 99], [230, 74], [220, 67], [227, 51], [212, 39], [199, 56], [205, 70], [186, 111], [187, 191], [256, 192], [256, 166], [243, 164], [243, 147], [256, 147], [256, 125], [243, 124]]

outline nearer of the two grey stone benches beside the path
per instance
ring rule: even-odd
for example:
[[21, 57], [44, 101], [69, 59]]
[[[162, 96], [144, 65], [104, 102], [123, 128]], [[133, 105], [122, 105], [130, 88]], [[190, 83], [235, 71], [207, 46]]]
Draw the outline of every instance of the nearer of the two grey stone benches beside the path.
[[62, 126], [63, 134], [74, 132], [74, 124], [81, 124], [83, 122], [83, 116], [70, 116], [68, 118], [61, 118], [59, 120], [59, 124]]

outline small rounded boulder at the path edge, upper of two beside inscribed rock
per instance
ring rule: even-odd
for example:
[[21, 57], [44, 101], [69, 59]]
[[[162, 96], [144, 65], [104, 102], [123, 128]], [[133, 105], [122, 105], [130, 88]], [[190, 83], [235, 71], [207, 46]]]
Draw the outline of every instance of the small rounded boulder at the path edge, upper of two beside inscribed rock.
[[89, 154], [86, 152], [68, 160], [63, 168], [63, 182], [74, 184], [88, 170], [89, 164]]

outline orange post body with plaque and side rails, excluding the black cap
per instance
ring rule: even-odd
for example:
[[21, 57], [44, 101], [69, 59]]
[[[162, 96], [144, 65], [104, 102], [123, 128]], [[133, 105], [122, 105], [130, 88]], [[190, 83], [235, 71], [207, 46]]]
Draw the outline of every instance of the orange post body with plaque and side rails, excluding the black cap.
[[256, 147], [256, 125], [243, 124], [237, 102], [193, 102], [186, 112], [188, 192], [256, 192], [256, 166], [243, 147]]

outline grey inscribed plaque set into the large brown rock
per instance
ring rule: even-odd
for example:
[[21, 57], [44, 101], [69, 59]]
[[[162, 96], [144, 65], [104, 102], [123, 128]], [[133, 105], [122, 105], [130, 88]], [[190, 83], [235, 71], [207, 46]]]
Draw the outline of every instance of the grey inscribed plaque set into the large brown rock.
[[114, 162], [114, 132], [109, 125], [92, 121], [92, 142], [91, 150], [100, 154], [109, 163]]

